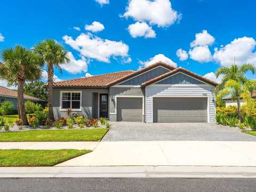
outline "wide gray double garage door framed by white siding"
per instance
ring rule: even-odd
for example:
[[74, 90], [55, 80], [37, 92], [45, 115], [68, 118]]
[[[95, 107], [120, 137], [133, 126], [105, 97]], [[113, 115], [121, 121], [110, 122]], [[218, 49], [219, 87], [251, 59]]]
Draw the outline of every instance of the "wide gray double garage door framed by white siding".
[[207, 122], [207, 98], [154, 98], [154, 122]]

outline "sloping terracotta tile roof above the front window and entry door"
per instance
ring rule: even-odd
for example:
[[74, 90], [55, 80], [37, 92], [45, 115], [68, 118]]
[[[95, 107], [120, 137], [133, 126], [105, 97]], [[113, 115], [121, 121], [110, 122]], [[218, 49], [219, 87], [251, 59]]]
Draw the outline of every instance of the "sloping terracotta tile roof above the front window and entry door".
[[54, 87], [107, 87], [110, 82], [116, 81], [126, 75], [134, 73], [132, 70], [119, 71], [115, 73], [71, 79], [54, 83]]

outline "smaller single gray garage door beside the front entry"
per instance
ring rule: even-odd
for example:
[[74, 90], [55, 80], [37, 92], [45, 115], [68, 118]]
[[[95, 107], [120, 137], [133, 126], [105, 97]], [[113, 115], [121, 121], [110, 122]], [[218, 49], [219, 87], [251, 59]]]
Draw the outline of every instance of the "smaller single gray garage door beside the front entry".
[[117, 121], [141, 122], [142, 98], [117, 98]]

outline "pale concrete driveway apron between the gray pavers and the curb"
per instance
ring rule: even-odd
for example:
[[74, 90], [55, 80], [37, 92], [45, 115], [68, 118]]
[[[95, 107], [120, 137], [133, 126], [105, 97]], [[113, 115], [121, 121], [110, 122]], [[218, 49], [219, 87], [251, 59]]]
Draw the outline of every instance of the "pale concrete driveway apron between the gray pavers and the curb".
[[256, 142], [101, 141], [55, 166], [256, 166]]

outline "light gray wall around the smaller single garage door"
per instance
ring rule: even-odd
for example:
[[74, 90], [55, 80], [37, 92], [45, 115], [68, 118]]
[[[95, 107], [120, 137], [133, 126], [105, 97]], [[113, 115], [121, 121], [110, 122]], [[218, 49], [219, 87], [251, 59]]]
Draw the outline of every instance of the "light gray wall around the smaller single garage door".
[[[143, 96], [144, 91], [141, 88], [132, 87], [110, 87], [109, 89], [109, 120], [117, 121], [116, 98], [118, 96]], [[144, 119], [145, 117], [143, 117]]]

